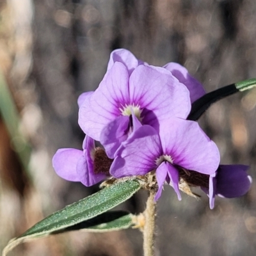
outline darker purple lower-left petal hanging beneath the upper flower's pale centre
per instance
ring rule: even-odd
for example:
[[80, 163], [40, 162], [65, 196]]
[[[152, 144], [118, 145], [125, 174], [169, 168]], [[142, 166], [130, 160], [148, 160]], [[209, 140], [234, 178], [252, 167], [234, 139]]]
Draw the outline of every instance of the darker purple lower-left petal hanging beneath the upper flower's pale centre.
[[109, 158], [114, 158], [118, 147], [127, 139], [128, 129], [129, 116], [118, 116], [102, 129], [100, 143], [105, 148]]

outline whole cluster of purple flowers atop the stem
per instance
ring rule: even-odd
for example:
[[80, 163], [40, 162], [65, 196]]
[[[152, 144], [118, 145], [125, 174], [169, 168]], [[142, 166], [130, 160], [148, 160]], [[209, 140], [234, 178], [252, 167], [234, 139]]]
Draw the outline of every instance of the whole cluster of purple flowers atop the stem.
[[[52, 159], [56, 173], [92, 186], [110, 175], [156, 172], [156, 200], [164, 183], [180, 200], [183, 179], [209, 195], [211, 208], [215, 195], [244, 195], [248, 166], [220, 165], [216, 144], [197, 122], [186, 120], [191, 103], [204, 94], [202, 84], [177, 63], [154, 67], [125, 49], [113, 51], [97, 90], [78, 99], [83, 150], [58, 150]], [[104, 148], [95, 148], [94, 141]]]

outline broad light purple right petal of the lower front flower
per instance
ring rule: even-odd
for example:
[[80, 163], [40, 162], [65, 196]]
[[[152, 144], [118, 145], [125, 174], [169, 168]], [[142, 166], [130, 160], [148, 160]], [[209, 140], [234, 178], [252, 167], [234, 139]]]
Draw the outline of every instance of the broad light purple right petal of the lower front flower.
[[196, 122], [170, 118], [161, 122], [159, 136], [164, 154], [171, 156], [174, 164], [205, 174], [217, 170], [219, 150]]

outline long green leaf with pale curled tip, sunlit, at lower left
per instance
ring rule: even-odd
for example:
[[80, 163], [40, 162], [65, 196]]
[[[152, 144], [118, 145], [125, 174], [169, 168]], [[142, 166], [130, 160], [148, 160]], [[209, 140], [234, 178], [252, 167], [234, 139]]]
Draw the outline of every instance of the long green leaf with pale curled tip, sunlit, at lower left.
[[36, 223], [21, 236], [12, 239], [4, 248], [3, 256], [25, 240], [48, 236], [53, 232], [58, 232], [95, 218], [116, 205], [125, 202], [139, 189], [140, 183], [138, 180], [122, 180], [74, 204], [67, 205], [60, 211], [54, 212], [44, 220]]

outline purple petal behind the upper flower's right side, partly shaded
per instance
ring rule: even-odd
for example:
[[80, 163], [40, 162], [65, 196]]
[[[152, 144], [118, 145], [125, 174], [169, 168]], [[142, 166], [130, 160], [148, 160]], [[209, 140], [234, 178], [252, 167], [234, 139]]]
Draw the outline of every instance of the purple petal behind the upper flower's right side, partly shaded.
[[180, 83], [185, 84], [190, 93], [191, 103], [205, 95], [204, 87], [199, 81], [192, 77], [188, 70], [178, 63], [170, 62], [164, 65], [164, 68], [172, 72]]

